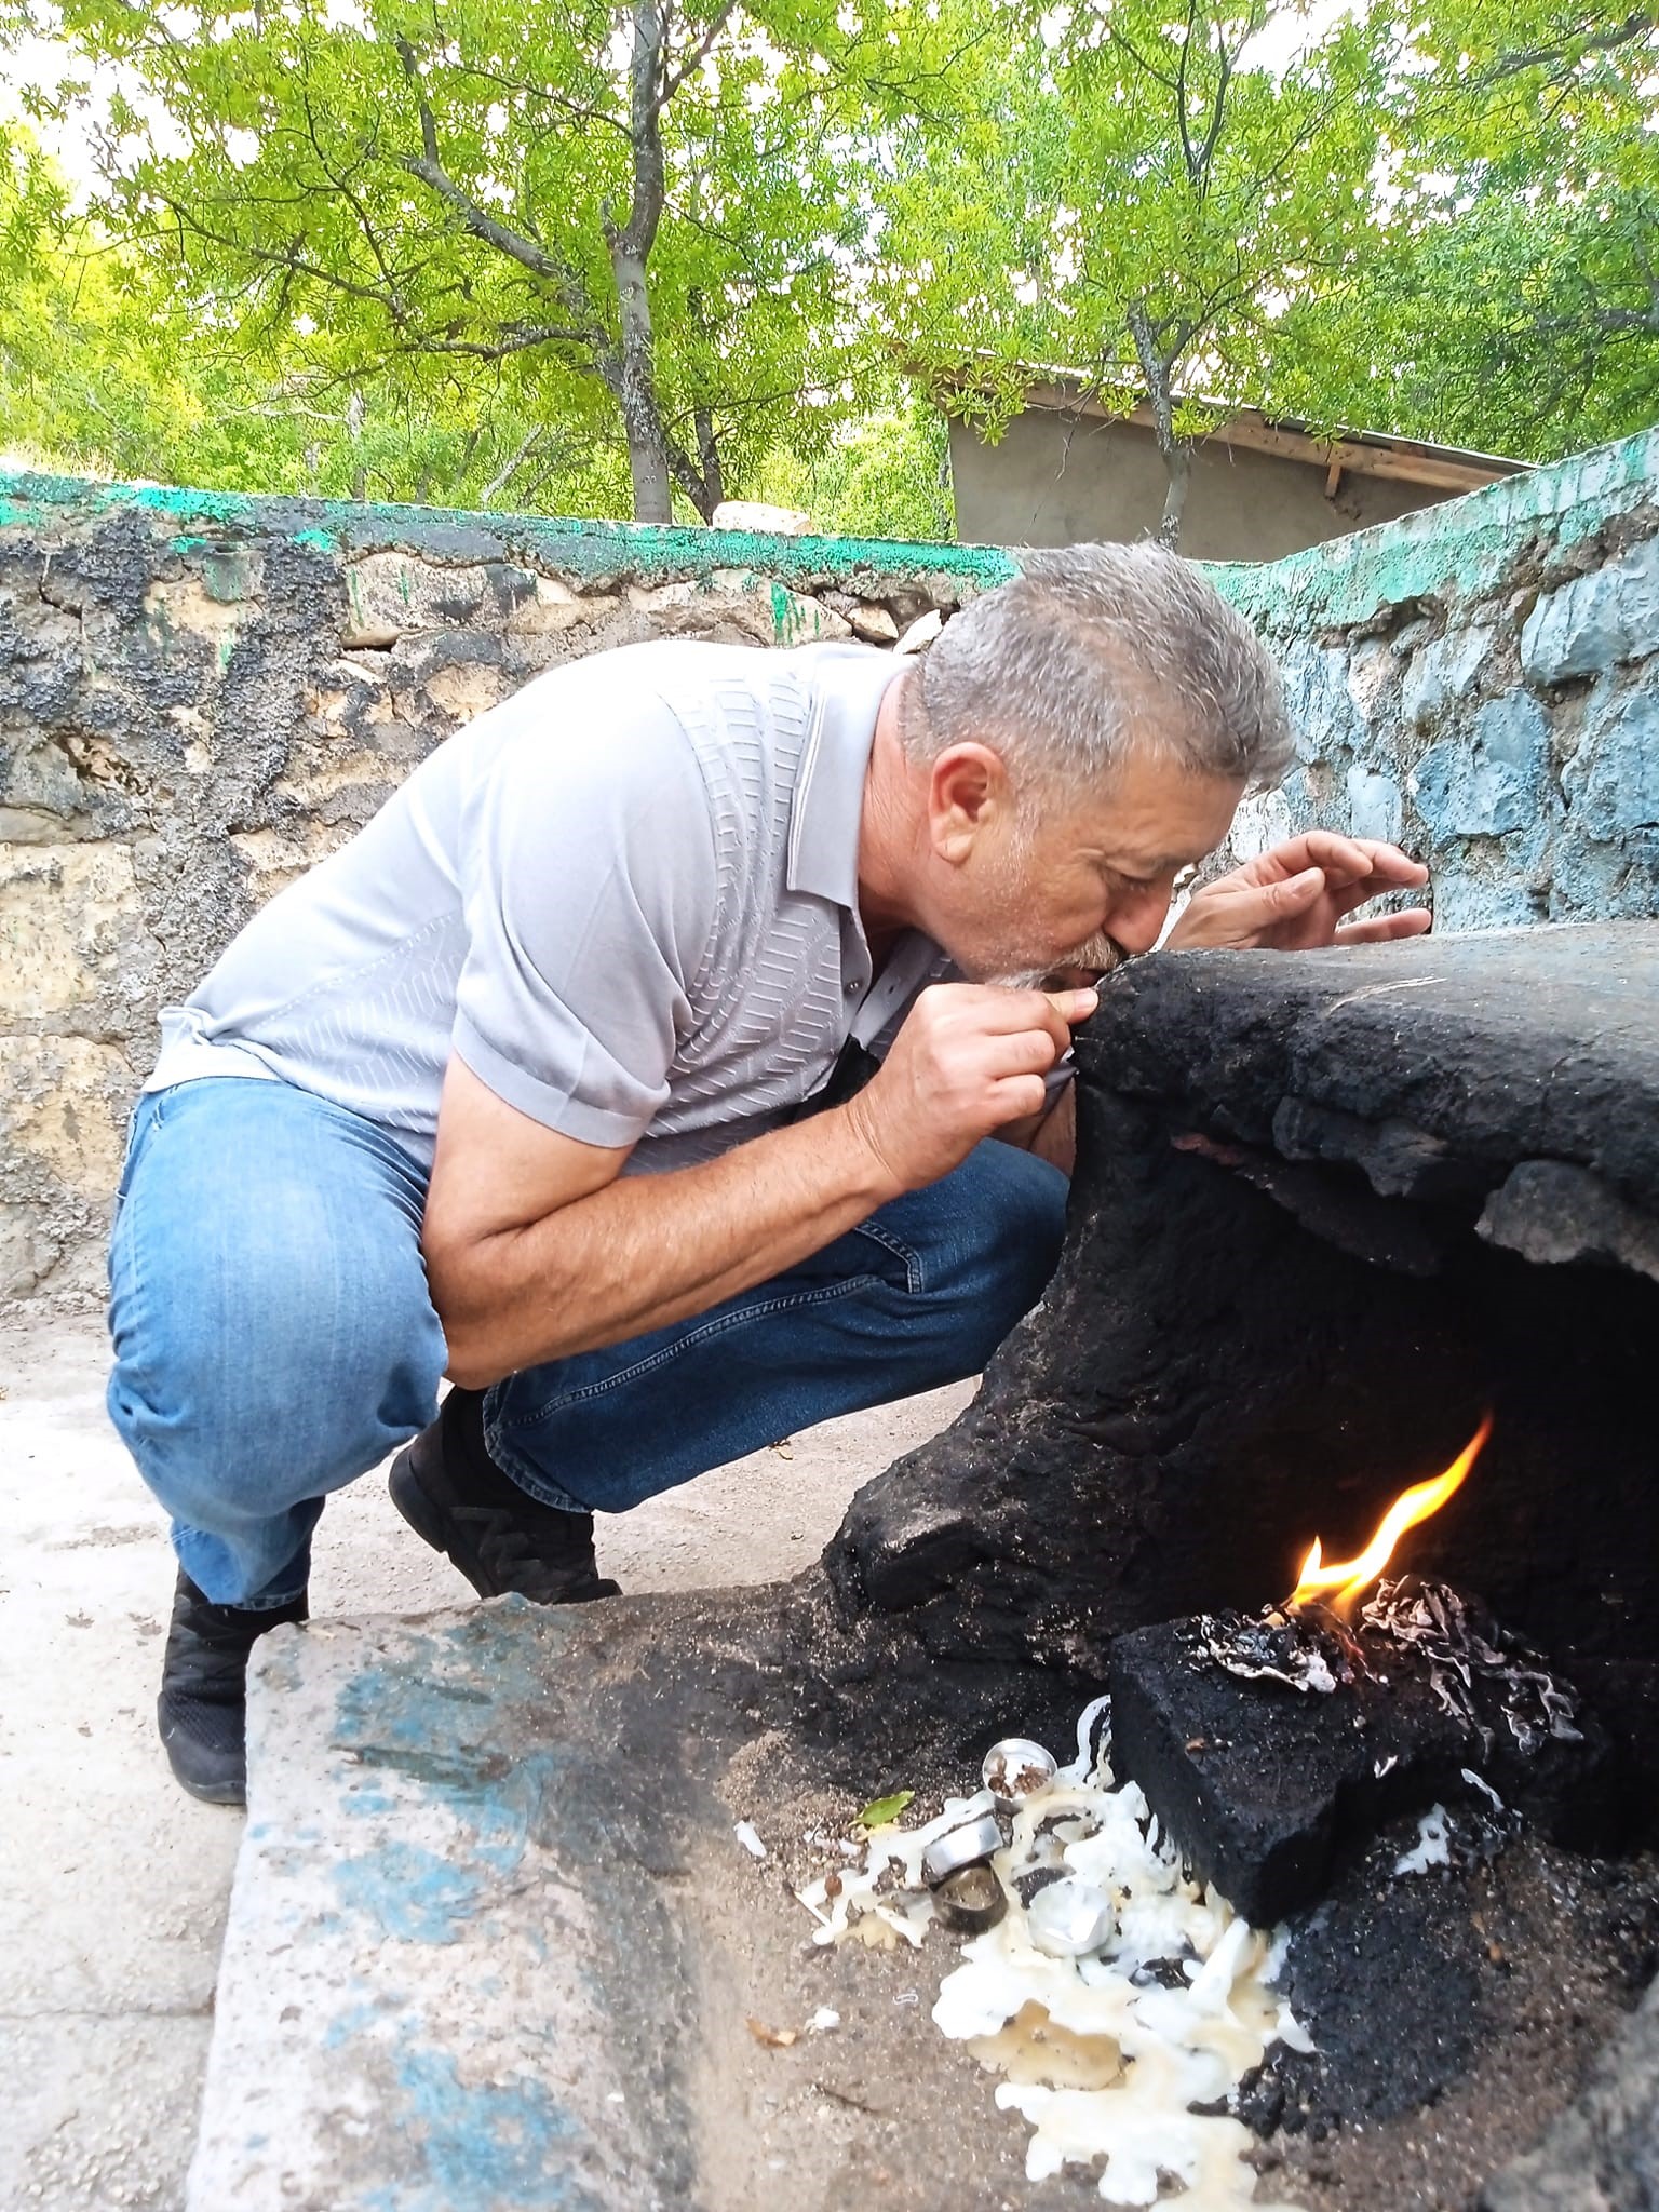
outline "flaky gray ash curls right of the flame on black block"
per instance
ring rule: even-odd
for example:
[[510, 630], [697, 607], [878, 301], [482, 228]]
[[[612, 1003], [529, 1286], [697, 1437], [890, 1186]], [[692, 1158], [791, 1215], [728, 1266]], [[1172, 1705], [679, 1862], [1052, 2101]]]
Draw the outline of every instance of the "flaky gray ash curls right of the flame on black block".
[[1498, 1705], [1524, 1759], [1555, 1743], [1582, 1743], [1575, 1692], [1548, 1672], [1544, 1657], [1500, 1628], [1486, 1608], [1444, 1582], [1400, 1575], [1367, 1601], [1360, 1624], [1378, 1637], [1418, 1652], [1442, 1710], [1491, 1754], [1493, 1732], [1475, 1712], [1475, 1692], [1495, 1690]]

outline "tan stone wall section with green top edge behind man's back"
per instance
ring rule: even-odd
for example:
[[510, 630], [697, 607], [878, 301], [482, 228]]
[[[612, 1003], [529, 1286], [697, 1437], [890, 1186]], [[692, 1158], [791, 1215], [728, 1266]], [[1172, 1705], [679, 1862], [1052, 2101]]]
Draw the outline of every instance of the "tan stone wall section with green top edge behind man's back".
[[471, 714], [646, 637], [891, 646], [1009, 573], [0, 476], [0, 1296], [97, 1285], [157, 1009]]

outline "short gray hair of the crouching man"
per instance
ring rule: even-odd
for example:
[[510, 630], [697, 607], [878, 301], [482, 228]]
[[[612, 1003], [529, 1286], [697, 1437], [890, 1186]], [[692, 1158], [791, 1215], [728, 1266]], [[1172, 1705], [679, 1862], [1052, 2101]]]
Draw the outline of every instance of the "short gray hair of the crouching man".
[[918, 765], [991, 745], [1046, 792], [1099, 783], [1141, 745], [1261, 790], [1294, 750], [1265, 646], [1157, 544], [1026, 553], [907, 677], [900, 739]]

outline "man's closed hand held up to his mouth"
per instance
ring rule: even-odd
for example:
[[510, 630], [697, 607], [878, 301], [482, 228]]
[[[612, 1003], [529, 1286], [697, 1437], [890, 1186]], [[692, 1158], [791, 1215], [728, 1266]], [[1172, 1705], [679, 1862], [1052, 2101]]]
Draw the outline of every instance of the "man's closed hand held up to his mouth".
[[841, 1110], [896, 1194], [922, 1190], [960, 1168], [982, 1137], [1042, 1113], [1044, 1075], [1097, 1004], [1095, 991], [933, 984], [880, 1071]]

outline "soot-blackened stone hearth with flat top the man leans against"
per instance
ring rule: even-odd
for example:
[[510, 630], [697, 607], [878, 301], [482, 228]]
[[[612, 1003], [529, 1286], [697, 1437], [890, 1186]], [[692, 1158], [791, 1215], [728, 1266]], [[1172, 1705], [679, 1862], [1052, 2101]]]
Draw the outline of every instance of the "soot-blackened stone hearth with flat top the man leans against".
[[852, 1615], [1102, 1668], [1283, 1597], [1482, 1411], [1409, 1566], [1628, 1734], [1659, 1657], [1659, 925], [1137, 962], [1077, 1040], [1066, 1254], [969, 1413], [854, 1502]]

